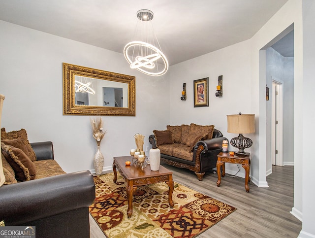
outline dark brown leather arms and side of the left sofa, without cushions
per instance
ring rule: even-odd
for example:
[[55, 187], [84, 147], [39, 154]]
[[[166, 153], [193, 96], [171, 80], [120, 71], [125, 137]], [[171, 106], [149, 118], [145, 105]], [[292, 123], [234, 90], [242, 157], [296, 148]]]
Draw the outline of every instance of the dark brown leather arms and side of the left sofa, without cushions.
[[[52, 142], [31, 145], [37, 161], [54, 159]], [[36, 238], [88, 238], [94, 199], [88, 170], [2, 185], [0, 221], [5, 226], [35, 226]]]

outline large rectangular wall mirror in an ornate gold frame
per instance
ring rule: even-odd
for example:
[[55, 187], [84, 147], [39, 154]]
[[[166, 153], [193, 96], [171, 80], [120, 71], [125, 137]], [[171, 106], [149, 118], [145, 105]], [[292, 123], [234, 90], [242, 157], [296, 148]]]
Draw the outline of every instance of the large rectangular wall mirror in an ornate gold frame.
[[[63, 115], [135, 116], [135, 80], [135, 76], [63, 63]], [[105, 100], [110, 94], [107, 89], [121, 92], [121, 102], [116, 103], [115, 95], [113, 103]]]

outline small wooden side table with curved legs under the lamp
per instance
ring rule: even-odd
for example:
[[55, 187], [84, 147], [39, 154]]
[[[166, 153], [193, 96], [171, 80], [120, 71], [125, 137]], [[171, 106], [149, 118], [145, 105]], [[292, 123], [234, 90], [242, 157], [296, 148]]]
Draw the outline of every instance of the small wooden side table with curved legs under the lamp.
[[231, 164], [241, 164], [245, 169], [245, 189], [246, 192], [250, 192], [250, 187], [248, 186], [248, 182], [251, 181], [250, 178], [250, 168], [251, 168], [251, 157], [250, 155], [230, 155], [229, 152], [220, 152], [218, 154], [217, 161], [217, 173], [218, 173], [218, 181], [217, 186], [220, 187], [221, 184], [221, 167], [222, 167], [222, 176], [225, 176], [225, 163]]

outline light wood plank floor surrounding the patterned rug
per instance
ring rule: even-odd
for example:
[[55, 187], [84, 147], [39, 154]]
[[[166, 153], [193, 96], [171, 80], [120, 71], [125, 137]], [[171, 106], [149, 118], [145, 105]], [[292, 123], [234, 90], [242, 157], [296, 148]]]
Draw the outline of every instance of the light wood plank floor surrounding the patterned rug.
[[[293, 207], [293, 166], [273, 166], [267, 177], [269, 187], [250, 183], [251, 190], [246, 193], [244, 178], [225, 174], [217, 187], [217, 174], [206, 173], [199, 181], [189, 170], [162, 165], [173, 171], [174, 181], [237, 208], [198, 238], [296, 238], [302, 229], [302, 222], [289, 213]], [[90, 227], [91, 238], [105, 237], [91, 215]]]

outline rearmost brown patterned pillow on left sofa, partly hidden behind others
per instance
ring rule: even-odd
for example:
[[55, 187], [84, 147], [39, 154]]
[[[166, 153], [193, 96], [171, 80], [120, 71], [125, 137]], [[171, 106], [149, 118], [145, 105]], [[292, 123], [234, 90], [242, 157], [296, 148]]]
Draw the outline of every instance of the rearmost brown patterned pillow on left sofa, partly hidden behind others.
[[1, 128], [1, 140], [2, 139], [22, 139], [26, 148], [28, 149], [27, 156], [32, 160], [36, 160], [35, 152], [28, 140], [28, 134], [26, 133], [25, 129], [21, 129], [20, 131], [12, 131], [12, 132], [5, 132], [4, 128]]

